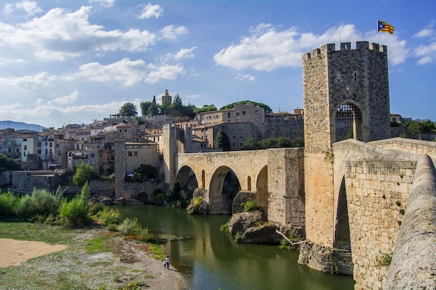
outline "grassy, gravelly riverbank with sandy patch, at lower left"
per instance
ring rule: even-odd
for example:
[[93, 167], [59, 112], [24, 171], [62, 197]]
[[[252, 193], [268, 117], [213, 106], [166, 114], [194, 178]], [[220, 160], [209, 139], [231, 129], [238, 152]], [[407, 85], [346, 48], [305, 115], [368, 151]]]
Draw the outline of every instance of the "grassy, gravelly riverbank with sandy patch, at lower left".
[[[0, 268], [1, 290], [187, 289], [182, 273], [165, 269], [163, 261], [153, 257], [150, 245], [129, 241], [103, 227], [0, 223], [0, 237], [2, 265], [6, 266]], [[20, 252], [16, 240], [26, 240], [31, 247]], [[50, 245], [61, 248], [47, 254]], [[14, 247], [15, 256], [11, 255]], [[17, 255], [29, 259], [17, 263]]]

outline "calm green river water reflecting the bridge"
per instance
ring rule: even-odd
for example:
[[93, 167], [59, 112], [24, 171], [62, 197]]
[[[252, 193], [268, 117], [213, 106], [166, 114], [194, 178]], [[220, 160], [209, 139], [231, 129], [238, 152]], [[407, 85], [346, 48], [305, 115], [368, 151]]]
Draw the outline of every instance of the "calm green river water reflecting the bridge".
[[354, 281], [297, 264], [298, 252], [277, 245], [235, 243], [220, 232], [230, 216], [189, 216], [185, 209], [155, 206], [120, 207], [158, 234], [189, 236], [162, 245], [171, 267], [189, 278], [192, 290], [352, 290]]

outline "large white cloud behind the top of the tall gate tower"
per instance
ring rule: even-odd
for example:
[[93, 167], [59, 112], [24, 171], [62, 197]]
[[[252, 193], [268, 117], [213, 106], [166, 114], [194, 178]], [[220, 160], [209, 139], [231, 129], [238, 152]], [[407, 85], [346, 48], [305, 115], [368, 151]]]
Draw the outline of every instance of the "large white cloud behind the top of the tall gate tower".
[[[271, 72], [280, 67], [301, 67], [302, 54], [326, 43], [339, 39], [355, 43], [362, 39], [386, 40], [389, 61], [392, 65], [403, 63], [409, 54], [405, 40], [397, 36], [376, 36], [374, 33], [360, 33], [354, 24], [343, 24], [325, 31], [321, 35], [299, 33], [295, 27], [279, 31], [272, 24], [259, 24], [250, 30], [251, 35], [243, 37], [238, 45], [221, 49], [214, 56], [217, 65], [232, 67], [235, 70], [254, 69]], [[338, 47], [336, 47], [338, 49]]]

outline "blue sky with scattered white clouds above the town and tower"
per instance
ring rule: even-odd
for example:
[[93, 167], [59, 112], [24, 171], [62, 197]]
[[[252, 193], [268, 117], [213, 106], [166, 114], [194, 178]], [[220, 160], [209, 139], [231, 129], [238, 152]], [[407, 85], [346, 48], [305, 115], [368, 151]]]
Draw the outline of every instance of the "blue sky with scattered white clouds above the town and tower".
[[362, 40], [388, 47], [391, 113], [436, 120], [435, 19], [428, 0], [0, 1], [0, 120], [89, 123], [165, 89], [290, 112], [302, 54]]

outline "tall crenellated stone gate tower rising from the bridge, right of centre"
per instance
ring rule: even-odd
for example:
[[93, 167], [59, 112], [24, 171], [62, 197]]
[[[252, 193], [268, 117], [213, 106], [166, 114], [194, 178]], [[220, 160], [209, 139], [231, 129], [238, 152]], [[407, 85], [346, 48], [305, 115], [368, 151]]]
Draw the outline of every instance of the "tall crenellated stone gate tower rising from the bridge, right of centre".
[[387, 47], [323, 45], [303, 55], [306, 238], [326, 247], [334, 236], [332, 144], [389, 138]]

